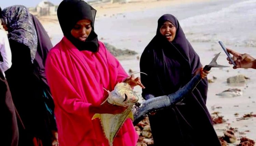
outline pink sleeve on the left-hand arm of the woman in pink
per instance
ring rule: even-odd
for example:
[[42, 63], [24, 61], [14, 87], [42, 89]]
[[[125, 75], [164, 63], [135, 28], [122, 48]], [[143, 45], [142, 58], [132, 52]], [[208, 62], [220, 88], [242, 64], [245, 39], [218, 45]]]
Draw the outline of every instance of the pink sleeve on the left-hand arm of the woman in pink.
[[93, 114], [89, 112], [91, 104], [83, 102], [70, 81], [56, 66], [57, 62], [51, 57], [49, 54], [46, 59], [45, 71], [55, 104], [67, 112], [67, 114], [85, 115], [85, 117], [91, 118]]

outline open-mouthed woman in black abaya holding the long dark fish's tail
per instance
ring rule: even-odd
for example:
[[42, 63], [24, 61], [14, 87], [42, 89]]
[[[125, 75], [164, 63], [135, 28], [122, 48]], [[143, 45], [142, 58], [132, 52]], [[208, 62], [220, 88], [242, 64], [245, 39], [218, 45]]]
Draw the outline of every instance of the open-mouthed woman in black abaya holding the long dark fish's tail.
[[173, 15], [158, 19], [156, 36], [142, 53], [140, 71], [147, 74], [141, 74], [144, 99], [174, 93], [197, 72], [202, 78], [184, 104], [149, 116], [155, 146], [220, 146], [205, 105], [209, 72], [202, 69], [198, 54]]

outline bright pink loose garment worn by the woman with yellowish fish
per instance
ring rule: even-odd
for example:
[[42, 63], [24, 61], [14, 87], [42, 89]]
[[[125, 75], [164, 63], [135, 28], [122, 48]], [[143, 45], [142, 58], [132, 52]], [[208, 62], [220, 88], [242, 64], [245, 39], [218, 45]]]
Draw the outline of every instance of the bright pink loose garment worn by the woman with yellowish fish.
[[[118, 60], [99, 42], [99, 52], [79, 51], [66, 38], [48, 53], [46, 77], [51, 89], [60, 146], [109, 146], [99, 119], [90, 105], [106, 98], [103, 88], [112, 91], [128, 75]], [[131, 119], [114, 139], [114, 146], [135, 146], [138, 140]]]

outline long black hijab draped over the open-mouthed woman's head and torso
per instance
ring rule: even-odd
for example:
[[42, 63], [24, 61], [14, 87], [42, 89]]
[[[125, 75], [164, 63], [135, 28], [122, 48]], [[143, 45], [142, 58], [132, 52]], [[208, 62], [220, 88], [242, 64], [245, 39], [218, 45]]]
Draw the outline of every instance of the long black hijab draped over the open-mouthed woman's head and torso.
[[[160, 33], [160, 28], [166, 21], [170, 21], [176, 28], [176, 35], [172, 42], [169, 42]], [[196, 69], [202, 66], [199, 56], [186, 39], [179, 21], [171, 14], [165, 14], [158, 19], [156, 35], [142, 53], [141, 71], [146, 71], [148, 65], [154, 67], [154, 69], [147, 77], [141, 74], [141, 78], [143, 80], [143, 78], [148, 78], [152, 74], [151, 78], [155, 81], [153, 84], [156, 86], [152, 87], [153, 89], [150, 89], [150, 87], [143, 89], [143, 96], [147, 93], [147, 90], [155, 91], [155, 96], [177, 91], [191, 79]], [[147, 80], [144, 79], [143, 84], [148, 84], [148, 86], [152, 84], [146, 82]]]

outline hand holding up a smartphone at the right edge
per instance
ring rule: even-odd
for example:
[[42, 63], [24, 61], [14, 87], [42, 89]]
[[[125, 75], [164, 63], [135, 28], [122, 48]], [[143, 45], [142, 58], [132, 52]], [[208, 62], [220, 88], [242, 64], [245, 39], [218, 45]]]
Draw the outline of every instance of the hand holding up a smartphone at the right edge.
[[[233, 55], [232, 59], [237, 64], [236, 66], [233, 66], [233, 69], [237, 69], [237, 68], [256, 69], [256, 59], [253, 58], [251, 55], [246, 53], [241, 54], [229, 48], [227, 48], [227, 51]], [[227, 60], [229, 61], [229, 64], [232, 64], [229, 58], [227, 58]]]

